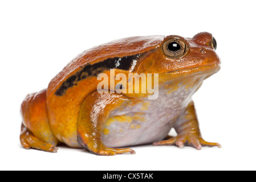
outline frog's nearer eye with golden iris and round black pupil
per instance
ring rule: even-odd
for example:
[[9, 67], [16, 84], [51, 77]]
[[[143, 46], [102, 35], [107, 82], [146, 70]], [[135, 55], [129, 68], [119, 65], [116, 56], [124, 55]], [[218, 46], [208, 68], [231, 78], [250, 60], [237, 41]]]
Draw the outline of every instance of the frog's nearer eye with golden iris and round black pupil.
[[170, 39], [164, 43], [162, 49], [166, 56], [178, 58], [185, 54], [186, 44], [179, 39]]

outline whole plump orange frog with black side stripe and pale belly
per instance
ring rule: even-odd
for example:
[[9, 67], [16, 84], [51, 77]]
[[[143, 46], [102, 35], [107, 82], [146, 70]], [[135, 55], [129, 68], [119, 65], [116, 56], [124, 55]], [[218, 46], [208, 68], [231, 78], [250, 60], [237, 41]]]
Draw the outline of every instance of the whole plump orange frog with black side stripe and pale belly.
[[[201, 135], [192, 96], [220, 71], [217, 42], [209, 32], [133, 36], [80, 53], [21, 105], [20, 141], [25, 149], [57, 152], [59, 144], [96, 155], [135, 154], [132, 146], [221, 147]], [[99, 92], [99, 75], [158, 76], [151, 93]], [[127, 83], [131, 81], [127, 80]], [[115, 84], [117, 81], [114, 81]], [[120, 86], [120, 85], [119, 85]], [[124, 90], [127, 85], [121, 85]], [[177, 133], [172, 137], [170, 130]]]

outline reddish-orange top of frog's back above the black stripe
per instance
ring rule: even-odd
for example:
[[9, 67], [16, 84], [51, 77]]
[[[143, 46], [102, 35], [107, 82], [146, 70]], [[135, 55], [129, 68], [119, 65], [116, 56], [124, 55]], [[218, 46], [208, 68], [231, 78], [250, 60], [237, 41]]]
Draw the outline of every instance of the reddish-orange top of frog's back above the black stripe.
[[[51, 80], [50, 84], [48, 85], [47, 96], [53, 92], [55, 93], [59, 86], [65, 80], [67, 80], [68, 77], [74, 75], [87, 64], [94, 65], [98, 63], [97, 65], [100, 66], [99, 63], [102, 63], [107, 59], [135, 56], [141, 52], [147, 52], [158, 47], [163, 39], [164, 36], [136, 36], [115, 40], [113, 42], [87, 49], [76, 56], [75, 59], [73, 59], [58, 75]], [[123, 65], [123, 67], [126, 66]]]

